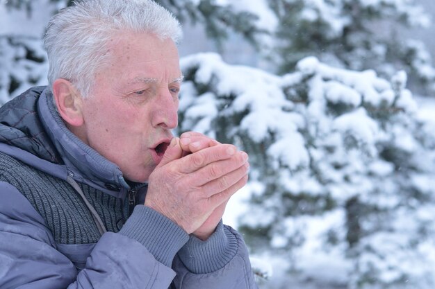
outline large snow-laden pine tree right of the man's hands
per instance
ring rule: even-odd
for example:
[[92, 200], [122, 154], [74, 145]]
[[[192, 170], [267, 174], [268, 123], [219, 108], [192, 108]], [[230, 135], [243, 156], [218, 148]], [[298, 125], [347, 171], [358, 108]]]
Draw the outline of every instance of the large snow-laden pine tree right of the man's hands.
[[282, 77], [214, 54], [181, 64], [181, 131], [249, 152], [239, 229], [283, 260], [286, 278], [268, 288], [435, 286], [435, 134], [406, 73], [388, 82], [315, 58]]

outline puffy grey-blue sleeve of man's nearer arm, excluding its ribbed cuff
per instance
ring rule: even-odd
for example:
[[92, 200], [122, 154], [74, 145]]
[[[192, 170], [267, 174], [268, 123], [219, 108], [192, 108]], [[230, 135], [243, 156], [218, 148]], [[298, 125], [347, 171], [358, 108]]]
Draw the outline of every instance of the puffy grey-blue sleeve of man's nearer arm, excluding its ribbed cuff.
[[77, 272], [42, 216], [14, 186], [0, 182], [0, 288], [167, 289], [174, 276], [140, 241], [119, 233], [104, 234]]

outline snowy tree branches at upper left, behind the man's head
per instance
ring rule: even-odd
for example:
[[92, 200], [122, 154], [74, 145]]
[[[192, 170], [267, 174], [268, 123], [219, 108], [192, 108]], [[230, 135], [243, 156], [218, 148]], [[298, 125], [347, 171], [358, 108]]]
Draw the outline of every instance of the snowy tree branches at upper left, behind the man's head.
[[42, 35], [49, 17], [69, 0], [0, 1], [0, 105], [29, 87], [47, 84]]

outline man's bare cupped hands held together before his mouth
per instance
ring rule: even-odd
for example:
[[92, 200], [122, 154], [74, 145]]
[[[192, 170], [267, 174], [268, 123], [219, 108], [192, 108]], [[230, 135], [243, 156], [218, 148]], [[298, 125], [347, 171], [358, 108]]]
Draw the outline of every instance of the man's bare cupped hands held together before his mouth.
[[246, 152], [204, 134], [174, 137], [149, 176], [145, 206], [162, 213], [188, 234], [206, 240], [220, 222], [229, 198], [245, 186]]

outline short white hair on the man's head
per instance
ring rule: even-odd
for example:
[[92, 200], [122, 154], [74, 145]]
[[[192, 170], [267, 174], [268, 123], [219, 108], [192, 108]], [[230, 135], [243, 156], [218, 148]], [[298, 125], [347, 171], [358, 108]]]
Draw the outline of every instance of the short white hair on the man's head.
[[97, 72], [110, 61], [106, 47], [110, 38], [126, 31], [175, 43], [182, 35], [179, 21], [151, 0], [83, 0], [60, 10], [44, 37], [49, 88], [57, 78], [65, 78], [88, 96]]

